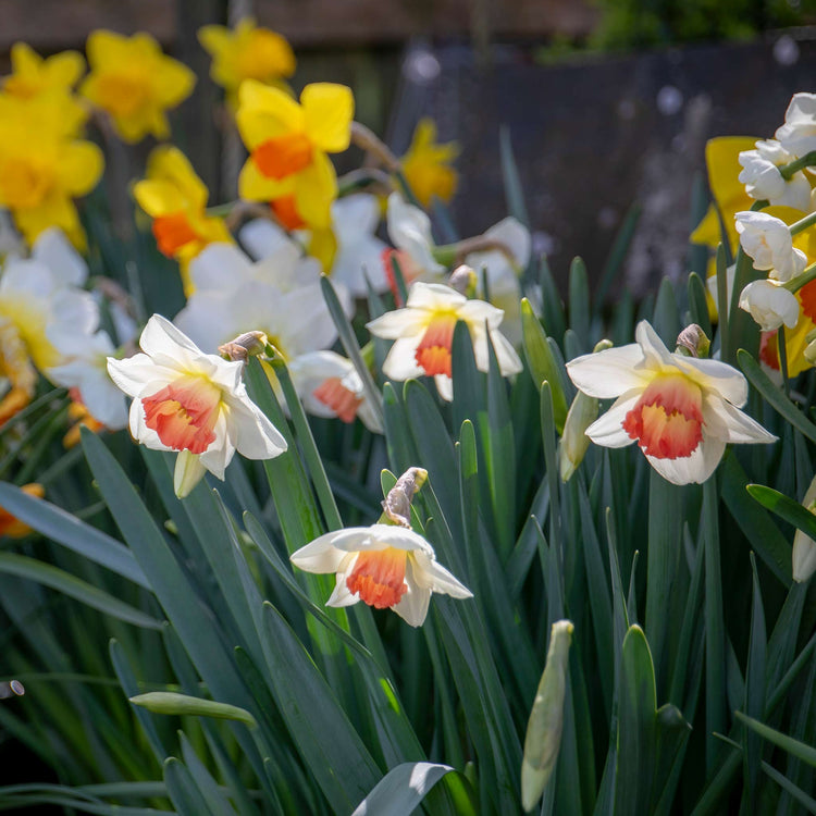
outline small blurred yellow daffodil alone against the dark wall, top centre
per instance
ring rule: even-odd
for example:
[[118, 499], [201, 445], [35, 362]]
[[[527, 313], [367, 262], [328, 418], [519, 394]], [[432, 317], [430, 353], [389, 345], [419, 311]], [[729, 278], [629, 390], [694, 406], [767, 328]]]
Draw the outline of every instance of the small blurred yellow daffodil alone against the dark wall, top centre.
[[436, 124], [432, 119], [419, 121], [403, 157], [403, 173], [423, 207], [430, 207], [434, 196], [446, 203], [454, 197], [459, 176], [450, 163], [457, 156], [459, 146], [455, 141], [436, 143]]

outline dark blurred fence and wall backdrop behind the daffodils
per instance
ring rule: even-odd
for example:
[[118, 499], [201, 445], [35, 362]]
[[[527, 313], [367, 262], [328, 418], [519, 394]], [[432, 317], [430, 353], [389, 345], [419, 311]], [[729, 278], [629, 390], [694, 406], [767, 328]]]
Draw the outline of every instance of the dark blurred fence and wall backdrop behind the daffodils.
[[[196, 32], [254, 15], [294, 46], [296, 89], [351, 86], [357, 119], [397, 153], [422, 115], [436, 120], [440, 140], [460, 144], [452, 214], [461, 236], [507, 212], [502, 128], [535, 247], [559, 281], [576, 255], [599, 275], [635, 206], [627, 281], [638, 293], [689, 265], [706, 139], [771, 137], [790, 97], [816, 90], [816, 0], [0, 0], [0, 9], [4, 70], [16, 40], [48, 54], [82, 49], [100, 27], [149, 32], [190, 65], [199, 82], [174, 139], [211, 201], [232, 197], [243, 157], [220, 126], [221, 90]], [[339, 169], [357, 160], [341, 157]]]

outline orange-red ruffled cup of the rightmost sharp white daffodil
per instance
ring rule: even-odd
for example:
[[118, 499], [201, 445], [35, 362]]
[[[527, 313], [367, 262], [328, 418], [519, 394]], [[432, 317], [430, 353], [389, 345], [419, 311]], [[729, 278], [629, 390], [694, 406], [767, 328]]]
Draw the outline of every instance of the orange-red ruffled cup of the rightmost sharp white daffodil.
[[623, 430], [646, 456], [691, 456], [703, 441], [703, 394], [682, 374], [656, 376], [623, 420]]

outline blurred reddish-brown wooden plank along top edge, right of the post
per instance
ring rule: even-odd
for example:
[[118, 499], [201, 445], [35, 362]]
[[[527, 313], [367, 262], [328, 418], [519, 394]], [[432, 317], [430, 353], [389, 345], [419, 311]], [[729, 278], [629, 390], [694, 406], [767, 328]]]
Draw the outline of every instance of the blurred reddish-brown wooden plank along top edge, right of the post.
[[372, 45], [411, 36], [472, 35], [482, 27], [493, 37], [580, 37], [597, 23], [589, 0], [258, 0], [262, 25], [294, 46]]

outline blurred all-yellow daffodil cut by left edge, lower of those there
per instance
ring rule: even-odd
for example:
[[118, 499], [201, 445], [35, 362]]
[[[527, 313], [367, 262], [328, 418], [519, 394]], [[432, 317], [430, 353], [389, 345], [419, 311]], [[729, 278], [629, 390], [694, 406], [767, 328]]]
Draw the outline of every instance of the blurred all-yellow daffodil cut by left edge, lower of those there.
[[104, 160], [90, 141], [47, 126], [59, 113], [47, 102], [23, 110], [17, 100], [0, 100], [0, 207], [11, 211], [28, 244], [59, 226], [83, 249], [85, 233], [73, 199], [96, 186]]

